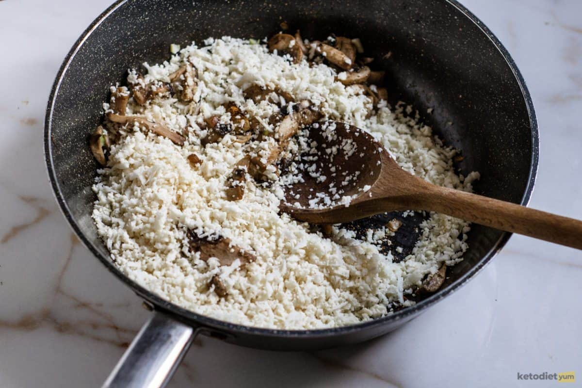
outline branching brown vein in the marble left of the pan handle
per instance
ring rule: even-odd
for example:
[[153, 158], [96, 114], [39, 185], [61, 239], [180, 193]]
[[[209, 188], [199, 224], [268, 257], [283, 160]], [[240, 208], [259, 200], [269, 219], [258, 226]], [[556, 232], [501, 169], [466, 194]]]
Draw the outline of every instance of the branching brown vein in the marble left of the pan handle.
[[[26, 200], [36, 202], [38, 201], [38, 198], [26, 198]], [[122, 334], [125, 334], [125, 336], [127, 337], [133, 337], [137, 333], [136, 330], [120, 328], [118, 325], [115, 324], [115, 322], [113, 322], [112, 315], [100, 311], [92, 303], [81, 301], [76, 296], [73, 296], [72, 294], [66, 292], [62, 287], [63, 277], [65, 276], [65, 272], [68, 269], [70, 261], [73, 257], [74, 248], [77, 245], [79, 245], [79, 240], [73, 233], [71, 233], [69, 252], [65, 259], [65, 264], [63, 265], [61, 272], [59, 272], [59, 275], [56, 280], [52, 304], [54, 305], [56, 299], [59, 296], [68, 298], [69, 300], [72, 300], [75, 303], [74, 308], [86, 309], [90, 311], [92, 314], [97, 315], [98, 317], [104, 319], [105, 323], [88, 320], [80, 320], [75, 322], [61, 321], [55, 316], [55, 314], [50, 309], [44, 308], [41, 309], [36, 314], [24, 315], [22, 316], [22, 318], [20, 318], [19, 321], [16, 322], [0, 321], [0, 328], [32, 331], [40, 328], [43, 325], [48, 324], [53, 326], [53, 328], [59, 333], [76, 334], [92, 340], [102, 341], [121, 348], [126, 348], [127, 346], [129, 346], [129, 342], [123, 339]], [[122, 307], [125, 305], [126, 304], [120, 304], [120, 306]], [[109, 339], [106, 336], [99, 336], [95, 333], [90, 332], [90, 330], [101, 330], [101, 329], [113, 330], [116, 339]]]

